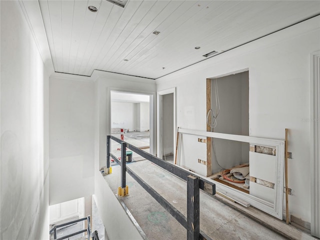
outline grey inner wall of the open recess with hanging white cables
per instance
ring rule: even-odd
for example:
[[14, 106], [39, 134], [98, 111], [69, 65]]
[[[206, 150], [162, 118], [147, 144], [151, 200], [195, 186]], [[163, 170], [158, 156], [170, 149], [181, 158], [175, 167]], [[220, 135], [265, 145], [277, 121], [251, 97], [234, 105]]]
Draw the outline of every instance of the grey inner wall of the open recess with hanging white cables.
[[[220, 103], [220, 111], [216, 118], [214, 132], [229, 134], [248, 135], [249, 134], [249, 82], [248, 72], [231, 74], [219, 77], [217, 89]], [[211, 89], [211, 108], [216, 111], [214, 81]], [[240, 163], [249, 162], [249, 144], [224, 139], [213, 139], [216, 157], [220, 166], [229, 168]], [[221, 170], [212, 154], [212, 173]]]

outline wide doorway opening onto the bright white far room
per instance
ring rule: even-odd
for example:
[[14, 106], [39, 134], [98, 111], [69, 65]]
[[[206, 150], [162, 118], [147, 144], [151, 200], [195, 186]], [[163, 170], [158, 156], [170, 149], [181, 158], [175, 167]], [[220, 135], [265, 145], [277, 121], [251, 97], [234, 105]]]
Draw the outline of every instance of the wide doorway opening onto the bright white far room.
[[[150, 95], [110, 91], [111, 134], [150, 152]], [[111, 144], [111, 151], [117, 155], [117, 144]], [[133, 152], [134, 160], [142, 159]]]

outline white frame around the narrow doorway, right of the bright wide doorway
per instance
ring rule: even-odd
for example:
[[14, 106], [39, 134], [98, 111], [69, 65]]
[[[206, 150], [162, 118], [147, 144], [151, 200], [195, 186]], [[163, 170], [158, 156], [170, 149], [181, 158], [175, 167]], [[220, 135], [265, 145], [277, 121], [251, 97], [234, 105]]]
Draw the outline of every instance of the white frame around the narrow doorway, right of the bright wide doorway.
[[175, 158], [176, 144], [176, 111], [175, 111], [175, 87], [156, 92], [156, 155], [162, 158], [162, 96], [173, 93], [173, 159]]

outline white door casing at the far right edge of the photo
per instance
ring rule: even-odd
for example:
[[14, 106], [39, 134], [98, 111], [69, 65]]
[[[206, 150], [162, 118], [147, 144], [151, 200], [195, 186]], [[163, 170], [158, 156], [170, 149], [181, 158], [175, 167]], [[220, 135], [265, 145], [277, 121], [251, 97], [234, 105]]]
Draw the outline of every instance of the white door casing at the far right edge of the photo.
[[320, 51], [310, 54], [311, 235], [320, 237]]

